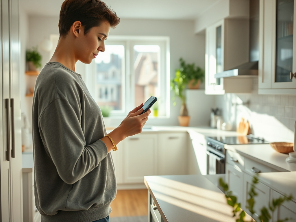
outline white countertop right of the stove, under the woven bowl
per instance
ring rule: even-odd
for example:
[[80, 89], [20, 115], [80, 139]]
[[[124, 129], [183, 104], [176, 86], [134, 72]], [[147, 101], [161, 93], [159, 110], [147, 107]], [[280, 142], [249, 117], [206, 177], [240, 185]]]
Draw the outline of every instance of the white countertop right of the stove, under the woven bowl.
[[224, 147], [276, 170], [296, 171], [296, 163], [286, 162], [289, 155], [276, 152], [269, 144], [225, 144]]

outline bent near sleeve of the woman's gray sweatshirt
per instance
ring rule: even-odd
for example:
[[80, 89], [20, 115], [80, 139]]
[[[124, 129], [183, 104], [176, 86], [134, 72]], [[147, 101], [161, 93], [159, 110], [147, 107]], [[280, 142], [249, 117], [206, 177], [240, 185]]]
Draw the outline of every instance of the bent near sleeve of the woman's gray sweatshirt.
[[55, 99], [49, 104], [39, 118], [39, 131], [59, 176], [67, 184], [83, 178], [107, 156], [106, 144], [100, 139], [86, 146], [80, 111], [67, 100]]

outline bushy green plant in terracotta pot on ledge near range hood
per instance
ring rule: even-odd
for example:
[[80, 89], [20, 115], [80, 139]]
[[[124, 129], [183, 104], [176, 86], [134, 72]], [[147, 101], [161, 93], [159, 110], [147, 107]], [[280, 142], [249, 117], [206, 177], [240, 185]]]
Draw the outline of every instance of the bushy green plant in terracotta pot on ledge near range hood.
[[205, 79], [205, 72], [199, 66], [196, 66], [194, 63], [186, 64], [186, 62], [180, 58], [180, 69], [179, 71], [182, 75], [186, 76], [188, 81], [189, 89], [199, 89], [200, 83], [203, 83]]

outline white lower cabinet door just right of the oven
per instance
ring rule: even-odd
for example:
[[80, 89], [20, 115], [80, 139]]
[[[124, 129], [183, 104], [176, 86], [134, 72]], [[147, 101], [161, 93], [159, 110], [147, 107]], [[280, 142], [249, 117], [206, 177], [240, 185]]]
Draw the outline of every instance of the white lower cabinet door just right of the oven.
[[243, 177], [244, 173], [241, 169], [226, 163], [226, 183], [228, 184], [229, 190], [232, 191], [233, 195], [237, 197], [237, 201], [242, 203], [243, 200]]

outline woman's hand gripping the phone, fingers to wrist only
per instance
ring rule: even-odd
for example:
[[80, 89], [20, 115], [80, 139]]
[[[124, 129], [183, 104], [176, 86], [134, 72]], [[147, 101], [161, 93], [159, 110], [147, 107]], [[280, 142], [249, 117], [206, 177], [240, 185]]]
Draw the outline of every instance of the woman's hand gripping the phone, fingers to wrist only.
[[141, 133], [142, 128], [148, 120], [148, 116], [151, 113], [151, 110], [143, 112], [143, 103], [138, 107], [134, 108], [131, 112], [128, 113], [127, 117], [120, 123], [118, 128], [123, 132], [124, 138], [128, 136], [133, 136], [135, 134]]

